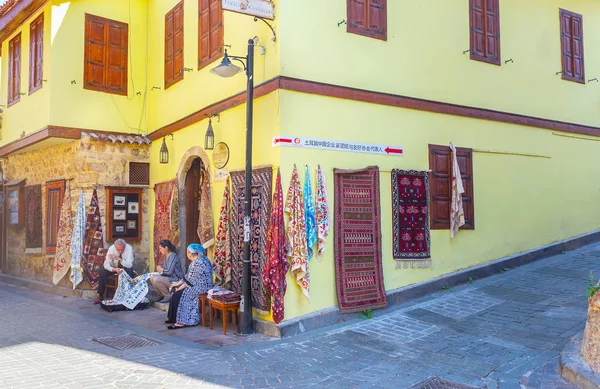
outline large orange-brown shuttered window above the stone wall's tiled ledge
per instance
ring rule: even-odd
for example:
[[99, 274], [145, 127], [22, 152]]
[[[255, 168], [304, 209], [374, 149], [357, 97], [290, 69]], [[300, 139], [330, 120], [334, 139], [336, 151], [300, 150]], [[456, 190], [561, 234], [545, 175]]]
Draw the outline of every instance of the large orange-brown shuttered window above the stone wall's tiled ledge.
[[85, 15], [84, 88], [127, 96], [126, 23]]

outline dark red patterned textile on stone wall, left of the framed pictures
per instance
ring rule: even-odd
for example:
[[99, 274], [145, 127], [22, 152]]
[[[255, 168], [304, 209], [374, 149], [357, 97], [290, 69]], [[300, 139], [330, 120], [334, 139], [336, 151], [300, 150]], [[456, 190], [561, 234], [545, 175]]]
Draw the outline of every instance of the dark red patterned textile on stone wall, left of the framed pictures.
[[104, 264], [105, 254], [100, 203], [98, 202], [98, 193], [94, 189], [85, 224], [85, 241], [83, 245], [83, 258], [81, 260], [81, 267], [83, 268], [85, 278], [92, 288], [98, 285], [100, 269], [102, 269], [102, 265]]

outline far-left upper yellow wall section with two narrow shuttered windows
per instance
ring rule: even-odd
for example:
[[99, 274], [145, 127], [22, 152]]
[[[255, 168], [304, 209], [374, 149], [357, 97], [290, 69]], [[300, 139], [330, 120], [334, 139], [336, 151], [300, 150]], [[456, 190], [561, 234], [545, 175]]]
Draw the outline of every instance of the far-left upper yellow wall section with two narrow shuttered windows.
[[[29, 25], [41, 13], [44, 13], [44, 62], [42, 88], [29, 94]], [[2, 109], [2, 132], [0, 144], [17, 140], [23, 132], [30, 134], [48, 125], [50, 118], [50, 6], [37, 12], [2, 42], [2, 70], [0, 109]], [[21, 34], [21, 99], [10, 107], [8, 105], [8, 45], [11, 39]]]

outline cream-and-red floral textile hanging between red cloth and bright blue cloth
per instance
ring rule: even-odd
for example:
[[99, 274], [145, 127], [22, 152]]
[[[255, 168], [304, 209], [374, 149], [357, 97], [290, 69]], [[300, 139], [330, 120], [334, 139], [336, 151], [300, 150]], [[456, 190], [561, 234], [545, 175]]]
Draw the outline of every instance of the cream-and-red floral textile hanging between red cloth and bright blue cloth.
[[310, 300], [310, 274], [308, 272], [308, 248], [306, 240], [306, 216], [304, 216], [304, 201], [302, 185], [298, 170], [294, 165], [290, 187], [285, 199], [285, 212], [289, 214], [287, 227], [288, 257], [292, 263], [292, 275], [302, 289], [304, 296]]

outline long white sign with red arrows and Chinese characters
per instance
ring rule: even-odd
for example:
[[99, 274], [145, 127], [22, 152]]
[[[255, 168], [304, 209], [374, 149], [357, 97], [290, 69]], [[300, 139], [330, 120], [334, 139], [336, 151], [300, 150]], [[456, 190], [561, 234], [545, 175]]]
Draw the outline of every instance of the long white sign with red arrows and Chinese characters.
[[352, 153], [367, 153], [404, 156], [404, 149], [398, 146], [378, 145], [372, 143], [356, 143], [338, 140], [304, 138], [298, 136], [274, 136], [273, 147], [304, 147], [310, 149], [348, 151]]

